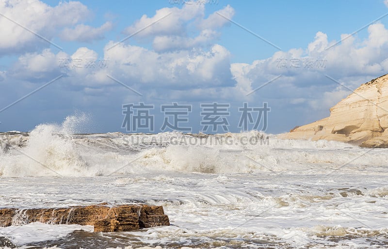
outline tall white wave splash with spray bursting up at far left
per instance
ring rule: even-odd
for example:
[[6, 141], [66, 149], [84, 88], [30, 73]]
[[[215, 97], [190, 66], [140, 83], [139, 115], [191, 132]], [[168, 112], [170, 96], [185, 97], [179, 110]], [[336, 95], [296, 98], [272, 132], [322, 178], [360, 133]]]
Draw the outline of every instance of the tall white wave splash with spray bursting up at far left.
[[64, 176], [77, 175], [88, 168], [82, 159], [72, 134], [86, 121], [86, 116], [68, 116], [62, 125], [40, 124], [29, 133], [22, 147], [11, 146], [10, 153], [3, 154], [0, 175]]

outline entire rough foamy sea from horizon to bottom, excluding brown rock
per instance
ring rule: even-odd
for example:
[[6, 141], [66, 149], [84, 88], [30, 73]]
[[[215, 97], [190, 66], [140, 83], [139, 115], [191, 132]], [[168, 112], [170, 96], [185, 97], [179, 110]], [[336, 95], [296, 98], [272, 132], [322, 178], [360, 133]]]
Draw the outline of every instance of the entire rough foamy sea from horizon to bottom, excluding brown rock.
[[0, 248], [388, 248], [388, 151], [259, 132], [0, 133], [0, 207], [162, 205], [171, 226], [0, 228]]

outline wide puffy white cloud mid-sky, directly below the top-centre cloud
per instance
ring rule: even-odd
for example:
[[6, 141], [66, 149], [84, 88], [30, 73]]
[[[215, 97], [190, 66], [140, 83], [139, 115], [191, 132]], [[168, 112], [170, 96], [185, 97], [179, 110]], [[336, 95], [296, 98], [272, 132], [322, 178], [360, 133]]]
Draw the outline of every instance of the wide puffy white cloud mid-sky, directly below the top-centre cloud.
[[[107, 48], [109, 46], [111, 44]], [[112, 73], [144, 84], [179, 88], [234, 84], [229, 69], [229, 51], [220, 45], [213, 45], [209, 51], [198, 49], [158, 53], [120, 44], [105, 50], [104, 56], [114, 63], [110, 67]]]

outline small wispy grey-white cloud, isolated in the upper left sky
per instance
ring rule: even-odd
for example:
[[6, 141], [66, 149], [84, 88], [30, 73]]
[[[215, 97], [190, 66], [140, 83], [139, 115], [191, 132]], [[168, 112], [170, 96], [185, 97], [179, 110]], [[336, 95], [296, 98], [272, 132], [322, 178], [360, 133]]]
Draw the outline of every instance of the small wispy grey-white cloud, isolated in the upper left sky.
[[60, 37], [64, 41], [80, 41], [91, 42], [93, 40], [101, 40], [104, 33], [112, 30], [113, 23], [108, 21], [101, 25], [101, 27], [93, 28], [89, 25], [79, 24], [74, 29], [65, 28]]

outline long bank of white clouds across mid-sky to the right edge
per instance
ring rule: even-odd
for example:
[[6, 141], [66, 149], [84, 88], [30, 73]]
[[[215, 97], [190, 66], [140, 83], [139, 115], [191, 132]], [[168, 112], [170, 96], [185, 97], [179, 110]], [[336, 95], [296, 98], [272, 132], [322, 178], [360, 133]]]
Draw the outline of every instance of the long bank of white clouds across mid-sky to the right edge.
[[[158, 52], [123, 43], [112, 48], [111, 41], [102, 55], [87, 48], [80, 48], [73, 54], [55, 54], [50, 50], [26, 54], [19, 58], [14, 71], [16, 68], [25, 78], [62, 72], [69, 80], [71, 78], [70, 82], [89, 89], [90, 93], [96, 92], [91, 89], [99, 86], [115, 85], [106, 76], [110, 74], [135, 89], [163, 89], [172, 98], [255, 100], [259, 96], [326, 109], [339, 101], [344, 92], [343, 89], [333, 90], [339, 84], [325, 75], [353, 89], [388, 70], [388, 30], [376, 23], [368, 32], [364, 41], [356, 42], [349, 37], [332, 48], [335, 41], [329, 42], [325, 33], [318, 32], [306, 49], [277, 51], [270, 58], [252, 64], [230, 64], [230, 52], [217, 44], [209, 49]], [[347, 34], [342, 35], [345, 37]], [[102, 58], [106, 66], [86, 66], [87, 61], [98, 58]], [[67, 67], [61, 67], [64, 59], [70, 61]], [[279, 75], [283, 77], [248, 95]], [[325, 104], [320, 105], [319, 101]]]

